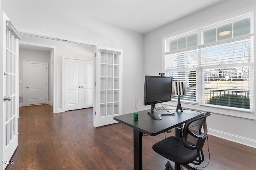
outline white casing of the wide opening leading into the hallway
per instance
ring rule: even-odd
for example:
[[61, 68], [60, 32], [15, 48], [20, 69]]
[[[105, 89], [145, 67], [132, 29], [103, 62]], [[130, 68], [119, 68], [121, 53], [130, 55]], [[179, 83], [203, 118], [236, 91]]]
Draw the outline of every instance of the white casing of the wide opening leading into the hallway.
[[[57, 81], [57, 47], [54, 45], [47, 45], [47, 44], [40, 44], [40, 43], [34, 43], [34, 42], [29, 42], [29, 41], [19, 41], [19, 44], [24, 44], [24, 45], [33, 45], [33, 46], [38, 46], [38, 47], [47, 47], [47, 48], [51, 48], [53, 49], [53, 65], [54, 68], [52, 70], [51, 68], [51, 72], [53, 72], [53, 113], [57, 113], [57, 87], [56, 87], [56, 81]], [[52, 61], [51, 61], [52, 62]], [[39, 62], [38, 62], [39, 63]], [[24, 64], [23, 64], [24, 66]], [[23, 67], [23, 71], [24, 71], [24, 67]], [[47, 79], [48, 80], [48, 79]], [[23, 95], [24, 95], [24, 72], [23, 72]], [[48, 94], [48, 93], [47, 93]], [[25, 94], [26, 95], [26, 94]], [[48, 98], [46, 100], [46, 102], [48, 102]], [[24, 99], [23, 99], [23, 106], [26, 106], [26, 100], [25, 100], [25, 105], [24, 105]]]

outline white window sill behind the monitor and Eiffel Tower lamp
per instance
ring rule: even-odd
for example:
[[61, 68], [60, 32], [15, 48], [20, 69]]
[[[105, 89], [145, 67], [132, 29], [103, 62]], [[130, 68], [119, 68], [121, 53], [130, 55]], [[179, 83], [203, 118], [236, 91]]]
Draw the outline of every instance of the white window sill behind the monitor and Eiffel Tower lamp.
[[[165, 102], [163, 104], [168, 105], [168, 106], [177, 107], [177, 102]], [[256, 120], [255, 113], [251, 112], [251, 111], [238, 111], [235, 109], [223, 109], [223, 108], [214, 107], [214, 105], [213, 106], [205, 106], [205, 105], [188, 104], [188, 103], [182, 103], [181, 105], [182, 105], [183, 109], [194, 109], [194, 110], [202, 111], [205, 113], [207, 111], [211, 111], [212, 113]]]

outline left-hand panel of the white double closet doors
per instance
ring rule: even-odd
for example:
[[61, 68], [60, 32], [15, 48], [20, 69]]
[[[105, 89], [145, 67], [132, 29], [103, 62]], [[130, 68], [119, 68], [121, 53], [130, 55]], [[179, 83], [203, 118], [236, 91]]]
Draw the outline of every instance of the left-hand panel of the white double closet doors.
[[81, 109], [81, 61], [65, 60], [65, 111]]

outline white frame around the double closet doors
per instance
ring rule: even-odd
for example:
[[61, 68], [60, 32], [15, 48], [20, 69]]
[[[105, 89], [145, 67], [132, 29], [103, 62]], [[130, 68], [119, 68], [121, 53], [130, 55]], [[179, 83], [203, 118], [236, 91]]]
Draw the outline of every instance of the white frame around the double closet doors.
[[[62, 56], [62, 112], [65, 112], [65, 61], [66, 59], [74, 59], [74, 60], [84, 60], [84, 61], [94, 61], [94, 58], [82, 58], [82, 57], [70, 57], [70, 56]], [[94, 67], [93, 70], [95, 71], [96, 68]], [[95, 74], [95, 73], [94, 73]], [[95, 76], [93, 82], [95, 82]], [[95, 91], [93, 90], [95, 93]], [[94, 102], [93, 102], [94, 107]]]

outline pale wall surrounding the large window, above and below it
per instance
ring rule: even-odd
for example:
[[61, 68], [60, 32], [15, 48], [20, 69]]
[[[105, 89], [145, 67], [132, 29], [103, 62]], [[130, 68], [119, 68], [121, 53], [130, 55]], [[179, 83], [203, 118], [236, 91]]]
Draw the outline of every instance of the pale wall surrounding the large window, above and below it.
[[[144, 73], [154, 75], [162, 70], [162, 36], [193, 27], [220, 16], [255, 5], [256, 1], [232, 0], [223, 1], [200, 12], [170, 23], [144, 35]], [[255, 7], [255, 6], [254, 6]], [[254, 18], [255, 19], [255, 18]], [[255, 20], [254, 20], [255, 21]], [[255, 23], [254, 23], [255, 24]], [[254, 31], [255, 33], [256, 31]], [[255, 35], [254, 35], [255, 37]], [[255, 80], [254, 80], [255, 83]], [[254, 84], [255, 85], [255, 84]], [[256, 85], [255, 85], [256, 86]], [[183, 105], [186, 106], [186, 105]], [[254, 104], [256, 106], [256, 102]], [[197, 109], [204, 108], [197, 107]], [[214, 113], [208, 118], [209, 133], [239, 143], [256, 147], [256, 121]], [[255, 114], [255, 113], [254, 113]]]

